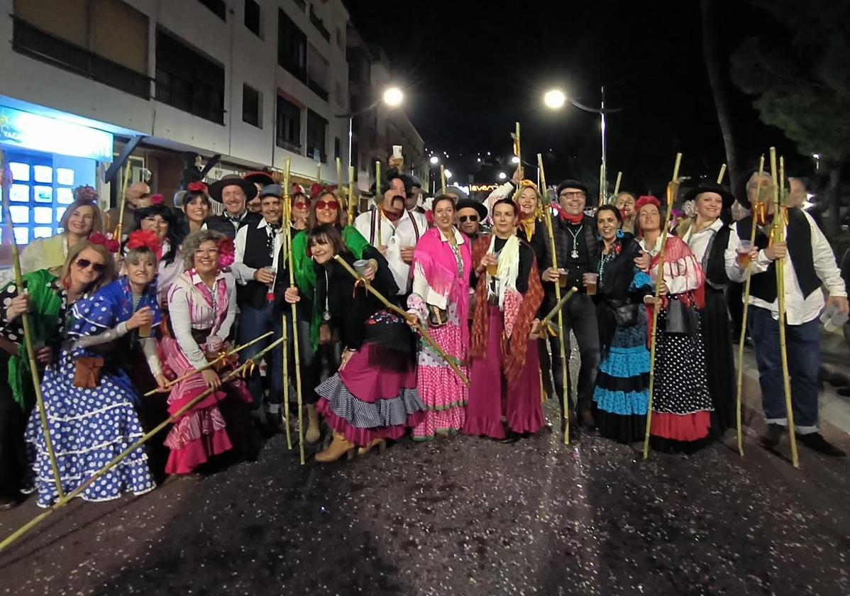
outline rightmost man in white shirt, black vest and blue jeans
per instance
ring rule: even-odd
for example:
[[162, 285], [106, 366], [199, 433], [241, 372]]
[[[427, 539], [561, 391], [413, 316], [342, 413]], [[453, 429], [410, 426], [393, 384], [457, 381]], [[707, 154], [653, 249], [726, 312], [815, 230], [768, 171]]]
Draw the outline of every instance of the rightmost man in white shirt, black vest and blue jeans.
[[[800, 442], [815, 451], [833, 457], [844, 457], [844, 451], [827, 442], [818, 432], [818, 369], [820, 366], [820, 326], [818, 316], [824, 308], [821, 286], [829, 292], [828, 307], [847, 313], [847, 292], [836, 265], [830, 243], [814, 220], [801, 209], [788, 209], [785, 242], [770, 244], [774, 224], [784, 224], [774, 217], [773, 202], [765, 201], [765, 187], [759, 193], [758, 174], [753, 174], [746, 190], [757, 218], [756, 245], [758, 258], [753, 262], [750, 286], [751, 333], [756, 347], [762, 408], [768, 430], [759, 438], [763, 446], [779, 445], [788, 428], [785, 411], [785, 389], [782, 383], [782, 361], [779, 355], [779, 309], [776, 285], [776, 261], [785, 267], [785, 345], [791, 377], [791, 406], [794, 428]], [[739, 202], [742, 202], [739, 197]], [[757, 203], [767, 202], [764, 221]], [[745, 207], [751, 207], [746, 204]], [[750, 238], [753, 215], [738, 222], [738, 236]]]

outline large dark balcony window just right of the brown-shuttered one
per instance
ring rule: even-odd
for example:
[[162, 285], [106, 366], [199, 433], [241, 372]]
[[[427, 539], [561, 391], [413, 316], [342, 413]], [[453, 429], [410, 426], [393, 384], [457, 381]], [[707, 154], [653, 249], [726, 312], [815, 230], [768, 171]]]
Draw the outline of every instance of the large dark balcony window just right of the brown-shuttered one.
[[224, 124], [224, 68], [165, 31], [156, 31], [156, 99]]

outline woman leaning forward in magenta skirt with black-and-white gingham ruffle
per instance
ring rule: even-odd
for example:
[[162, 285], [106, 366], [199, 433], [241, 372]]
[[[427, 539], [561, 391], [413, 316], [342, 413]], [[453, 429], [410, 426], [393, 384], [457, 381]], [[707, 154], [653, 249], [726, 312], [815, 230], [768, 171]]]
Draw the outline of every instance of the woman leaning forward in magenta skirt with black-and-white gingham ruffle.
[[[362, 454], [399, 439], [422, 420], [425, 405], [416, 391], [415, 343], [404, 319], [359, 287], [334, 257], [359, 269], [378, 292], [394, 296], [398, 287], [386, 261], [355, 259], [333, 224], [314, 226], [308, 240], [318, 281], [314, 295], [327, 305], [328, 323], [343, 345], [338, 372], [315, 389], [316, 409], [334, 431], [331, 445], [315, 460], [328, 463], [355, 446]], [[286, 291], [286, 301], [297, 303], [296, 288]]]

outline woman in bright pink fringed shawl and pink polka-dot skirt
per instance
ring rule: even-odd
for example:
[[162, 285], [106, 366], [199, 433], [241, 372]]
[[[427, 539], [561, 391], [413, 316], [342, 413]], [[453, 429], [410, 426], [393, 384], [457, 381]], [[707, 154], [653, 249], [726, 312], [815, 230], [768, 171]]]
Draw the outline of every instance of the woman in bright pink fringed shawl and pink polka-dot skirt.
[[[472, 248], [469, 239], [455, 230], [454, 199], [437, 196], [431, 211], [436, 227], [416, 244], [408, 312], [422, 322], [439, 347], [466, 373]], [[425, 342], [419, 352], [417, 389], [428, 410], [413, 429], [414, 440], [433, 439], [434, 434], [463, 428], [467, 386]]]

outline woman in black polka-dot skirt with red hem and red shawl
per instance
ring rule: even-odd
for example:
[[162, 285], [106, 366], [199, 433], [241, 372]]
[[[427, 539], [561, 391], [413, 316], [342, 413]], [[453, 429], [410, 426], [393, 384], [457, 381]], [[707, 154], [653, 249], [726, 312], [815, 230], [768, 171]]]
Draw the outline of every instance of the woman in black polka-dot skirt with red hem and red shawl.
[[[655, 391], [650, 434], [655, 449], [694, 451], [708, 436], [711, 427], [711, 394], [706, 378], [706, 349], [700, 335], [698, 290], [705, 281], [702, 268], [687, 244], [666, 236], [664, 270], [659, 271], [661, 248], [660, 202], [655, 196], [642, 196], [636, 205], [640, 244], [651, 258], [649, 277], [653, 287], [658, 275], [660, 304], [643, 298], [651, 320], [658, 308], [655, 332]], [[649, 330], [650, 337], [652, 330]]]

